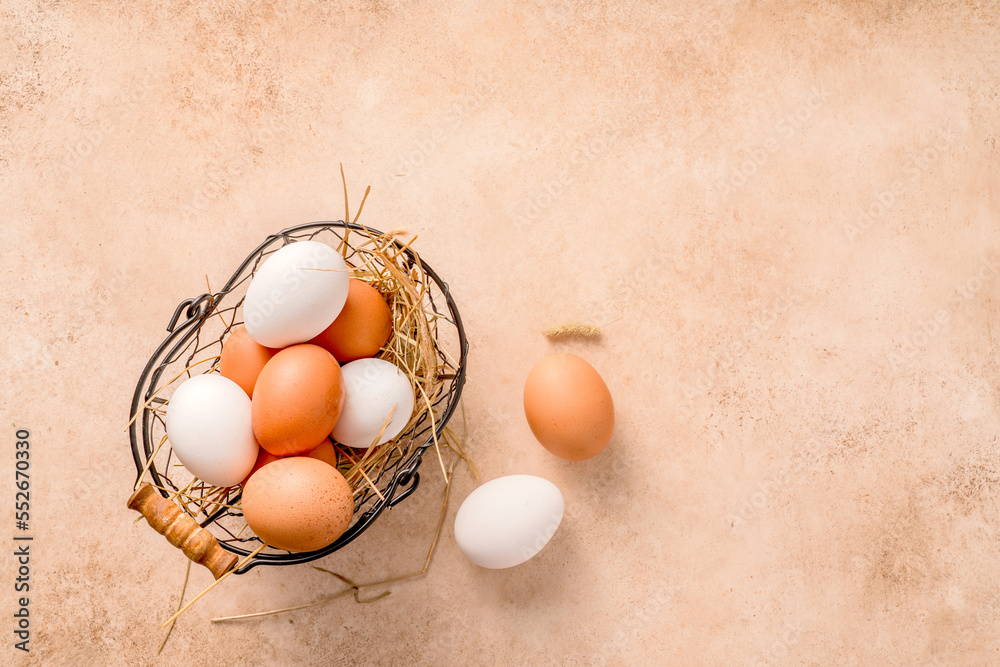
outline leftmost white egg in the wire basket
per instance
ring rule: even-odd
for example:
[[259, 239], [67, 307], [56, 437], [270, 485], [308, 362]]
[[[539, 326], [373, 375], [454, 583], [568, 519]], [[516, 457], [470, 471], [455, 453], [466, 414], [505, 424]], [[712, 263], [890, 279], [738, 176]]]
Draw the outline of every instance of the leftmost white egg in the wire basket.
[[177, 387], [167, 403], [166, 426], [174, 454], [209, 484], [239, 484], [257, 460], [250, 397], [221, 375], [196, 375]]

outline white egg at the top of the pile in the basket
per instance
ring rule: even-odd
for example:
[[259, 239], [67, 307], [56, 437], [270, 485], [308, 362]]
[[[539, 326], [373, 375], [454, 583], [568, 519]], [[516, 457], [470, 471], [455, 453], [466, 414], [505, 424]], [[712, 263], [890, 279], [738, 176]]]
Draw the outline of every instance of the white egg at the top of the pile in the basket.
[[268, 257], [247, 289], [243, 321], [265, 347], [288, 347], [322, 333], [347, 301], [350, 271], [318, 241], [290, 243]]

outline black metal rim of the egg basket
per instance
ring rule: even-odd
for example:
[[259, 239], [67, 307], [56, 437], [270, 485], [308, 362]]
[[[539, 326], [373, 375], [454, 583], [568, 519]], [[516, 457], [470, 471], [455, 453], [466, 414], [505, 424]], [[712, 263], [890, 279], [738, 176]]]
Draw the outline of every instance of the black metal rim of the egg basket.
[[[292, 234], [297, 234], [303, 231], [309, 231], [311, 229], [322, 230], [329, 227], [339, 227], [342, 229], [348, 229], [358, 232], [370, 232], [375, 236], [384, 236], [384, 233], [373, 227], [368, 227], [366, 225], [359, 225], [357, 223], [345, 222], [343, 220], [335, 221], [317, 221], [317, 222], [307, 222], [286, 229], [281, 230], [276, 234], [269, 235], [262, 243], [260, 243], [254, 250], [247, 255], [246, 259], [240, 264], [240, 266], [233, 272], [232, 277], [226, 282], [223, 288], [216, 292], [215, 294], [201, 294], [200, 296], [188, 298], [183, 300], [177, 308], [174, 310], [173, 316], [170, 319], [170, 323], [167, 326], [168, 335], [156, 348], [156, 351], [150, 356], [149, 360], [146, 362], [143, 368], [142, 374], [139, 377], [139, 382], [136, 384], [135, 393], [132, 396], [132, 405], [130, 411], [130, 418], [132, 422], [129, 425], [129, 442], [132, 449], [132, 458], [136, 466], [137, 481], [138, 476], [142, 475], [143, 469], [145, 467], [145, 462], [142, 454], [140, 454], [140, 444], [137, 430], [142, 430], [143, 447], [142, 451], [146, 457], [152, 455], [152, 445], [146, 442], [146, 425], [148, 419], [148, 410], [143, 408], [142, 419], [140, 420], [137, 416], [137, 412], [140, 407], [144, 405], [148, 397], [143, 395], [143, 388], [146, 386], [147, 381], [150, 376], [154, 374], [154, 369], [157, 368], [158, 360], [164, 356], [164, 352], [174, 347], [174, 349], [179, 348], [181, 345], [186, 343], [190, 337], [199, 329], [202, 322], [212, 313], [215, 308], [216, 303], [224, 296], [229, 294], [235, 285], [240, 282], [240, 276], [243, 272], [253, 263], [259, 255], [264, 251], [265, 248], [270, 246], [276, 240], [281, 238], [287, 238]], [[453, 383], [455, 385], [454, 389], [454, 399], [451, 400], [446, 406], [444, 412], [441, 414], [440, 418], [435, 424], [434, 433], [432, 437], [429, 437], [427, 441], [417, 446], [410, 455], [410, 460], [406, 465], [398, 469], [390, 480], [389, 484], [383, 493], [385, 496], [384, 501], [377, 502], [373, 507], [369, 508], [364, 512], [358, 520], [352, 524], [349, 539], [346, 541], [337, 540], [329, 546], [319, 549], [317, 551], [310, 551], [305, 553], [287, 553], [287, 554], [265, 554], [260, 553], [254, 556], [254, 558], [248, 563], [244, 564], [242, 567], [238, 568], [235, 572], [236, 574], [243, 574], [253, 569], [257, 565], [294, 565], [297, 563], [306, 563], [309, 561], [316, 560], [327, 556], [334, 551], [345, 546], [353, 539], [360, 536], [361, 533], [376, 519], [378, 516], [389, 507], [395, 506], [397, 503], [401, 502], [407, 498], [410, 494], [416, 491], [417, 486], [420, 482], [420, 474], [417, 472], [417, 468], [420, 465], [423, 453], [428, 447], [432, 446], [435, 439], [440, 439], [448, 421], [451, 419], [454, 411], [461, 399], [462, 389], [465, 385], [466, 379], [466, 359], [468, 357], [469, 343], [465, 334], [465, 327], [462, 323], [461, 315], [459, 314], [458, 307], [455, 304], [455, 300], [451, 295], [451, 289], [448, 283], [444, 282], [440, 276], [435, 272], [424, 260], [419, 257], [412, 249], [404, 246], [399, 240], [392, 239], [392, 243], [400, 248], [409, 261], [413, 264], [419, 263], [421, 270], [426, 273], [434, 283], [440, 288], [441, 293], [445, 298], [445, 303], [447, 304], [448, 310], [454, 317], [454, 324], [458, 332], [459, 340], [459, 359], [457, 361], [457, 370]], [[178, 321], [186, 315], [187, 318], [178, 324]], [[162, 369], [161, 369], [162, 370]], [[158, 379], [158, 373], [157, 378]], [[154, 379], [154, 381], [155, 381]], [[397, 491], [400, 489], [401, 492], [397, 495]], [[169, 495], [163, 491], [159, 490], [160, 494], [164, 497], [169, 497]], [[233, 502], [239, 500], [239, 495], [237, 495]], [[219, 516], [224, 513], [225, 510], [219, 510], [212, 516], [204, 519], [201, 522], [202, 527], [210, 525]], [[345, 535], [345, 537], [348, 537]], [[252, 551], [248, 549], [243, 549], [239, 546], [235, 546], [226, 542], [220, 542], [223, 548], [231, 553], [237, 554], [238, 556], [248, 556]]]

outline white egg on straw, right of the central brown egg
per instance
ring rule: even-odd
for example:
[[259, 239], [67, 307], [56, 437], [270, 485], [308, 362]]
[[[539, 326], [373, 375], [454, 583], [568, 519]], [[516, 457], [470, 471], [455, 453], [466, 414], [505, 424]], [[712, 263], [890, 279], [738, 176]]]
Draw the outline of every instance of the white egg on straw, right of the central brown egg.
[[413, 387], [394, 364], [384, 359], [358, 359], [340, 368], [344, 374], [344, 409], [333, 427], [337, 442], [367, 449], [375, 443], [379, 431], [392, 419], [378, 444], [399, 435], [413, 415]]

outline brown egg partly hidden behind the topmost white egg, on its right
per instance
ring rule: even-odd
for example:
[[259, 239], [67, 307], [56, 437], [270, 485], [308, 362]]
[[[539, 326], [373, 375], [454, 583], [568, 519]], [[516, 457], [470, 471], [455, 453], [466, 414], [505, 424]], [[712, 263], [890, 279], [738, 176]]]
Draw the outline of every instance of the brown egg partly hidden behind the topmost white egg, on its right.
[[378, 290], [351, 278], [340, 315], [310, 343], [329, 351], [342, 364], [374, 357], [392, 335], [392, 311]]

